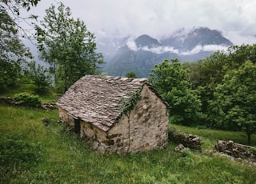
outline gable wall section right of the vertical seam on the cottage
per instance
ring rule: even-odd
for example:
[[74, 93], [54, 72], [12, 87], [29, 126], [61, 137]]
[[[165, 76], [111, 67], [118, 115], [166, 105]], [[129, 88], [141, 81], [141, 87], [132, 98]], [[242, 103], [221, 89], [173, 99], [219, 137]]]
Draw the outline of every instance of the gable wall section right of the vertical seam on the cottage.
[[166, 105], [149, 86], [144, 86], [141, 99], [130, 112], [129, 151], [165, 148], [168, 144]]

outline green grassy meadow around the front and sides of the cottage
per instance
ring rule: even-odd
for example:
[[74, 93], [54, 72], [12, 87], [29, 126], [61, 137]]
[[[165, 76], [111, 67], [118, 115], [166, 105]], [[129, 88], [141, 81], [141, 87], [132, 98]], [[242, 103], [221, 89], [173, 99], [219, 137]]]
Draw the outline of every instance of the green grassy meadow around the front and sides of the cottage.
[[[50, 123], [43, 123], [42, 118], [50, 118]], [[256, 181], [255, 166], [187, 149], [177, 154], [173, 152], [177, 145], [172, 143], [165, 150], [102, 156], [91, 150], [76, 134], [64, 131], [57, 120], [57, 110], [0, 106], [0, 146], [7, 144], [4, 146], [5, 149], [0, 150], [1, 183], [255, 183]], [[175, 127], [184, 132], [202, 135], [202, 141], [207, 142], [206, 145], [209, 147], [214, 146], [219, 135], [225, 134], [223, 139], [230, 136], [234, 139], [238, 135], [238, 133], [217, 130], [210, 134], [210, 130]], [[238, 135], [238, 139], [242, 140], [242, 137]], [[20, 143], [25, 148], [15, 148], [10, 146], [10, 143], [14, 145]], [[2, 161], [2, 158], [7, 159], [8, 155], [11, 156], [11, 161]]]

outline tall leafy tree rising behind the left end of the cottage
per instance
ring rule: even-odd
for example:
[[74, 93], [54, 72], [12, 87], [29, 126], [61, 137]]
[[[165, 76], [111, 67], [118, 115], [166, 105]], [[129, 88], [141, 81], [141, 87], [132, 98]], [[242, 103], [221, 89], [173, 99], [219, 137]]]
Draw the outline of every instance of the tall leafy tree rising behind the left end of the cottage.
[[94, 34], [84, 22], [70, 16], [70, 8], [61, 2], [57, 10], [50, 6], [41, 26], [35, 27], [41, 58], [50, 64], [62, 91], [85, 74], [99, 74], [99, 65], [104, 63], [102, 54], [96, 53]]

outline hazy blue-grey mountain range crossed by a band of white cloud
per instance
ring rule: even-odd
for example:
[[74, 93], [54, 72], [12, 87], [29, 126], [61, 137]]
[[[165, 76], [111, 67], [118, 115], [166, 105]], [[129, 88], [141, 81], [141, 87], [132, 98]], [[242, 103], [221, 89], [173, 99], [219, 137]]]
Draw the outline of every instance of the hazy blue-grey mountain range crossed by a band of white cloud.
[[107, 58], [109, 60], [103, 70], [109, 75], [125, 76], [129, 71], [134, 71], [139, 78], [147, 78], [154, 65], [165, 59], [197, 61], [216, 50], [233, 46], [220, 31], [207, 27], [180, 29], [161, 40], [143, 34], [134, 40], [126, 38], [123, 41], [126, 42], [119, 42], [113, 58]]

